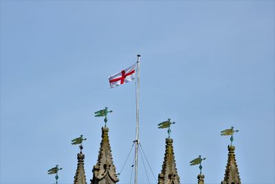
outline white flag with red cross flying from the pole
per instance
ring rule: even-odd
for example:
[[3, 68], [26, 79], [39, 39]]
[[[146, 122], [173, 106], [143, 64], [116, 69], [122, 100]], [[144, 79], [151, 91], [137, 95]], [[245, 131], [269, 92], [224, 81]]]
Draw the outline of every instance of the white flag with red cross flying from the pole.
[[117, 74], [109, 76], [110, 88], [133, 81], [135, 79], [135, 64]]

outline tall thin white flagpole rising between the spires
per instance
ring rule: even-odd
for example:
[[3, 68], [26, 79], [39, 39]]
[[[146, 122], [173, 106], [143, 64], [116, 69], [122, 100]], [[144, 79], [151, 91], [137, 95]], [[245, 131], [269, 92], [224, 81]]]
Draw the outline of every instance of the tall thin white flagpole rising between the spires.
[[139, 92], [140, 92], [140, 54], [137, 55], [137, 88], [136, 88], [136, 125], [135, 125], [135, 184], [137, 184], [137, 154], [139, 144]]

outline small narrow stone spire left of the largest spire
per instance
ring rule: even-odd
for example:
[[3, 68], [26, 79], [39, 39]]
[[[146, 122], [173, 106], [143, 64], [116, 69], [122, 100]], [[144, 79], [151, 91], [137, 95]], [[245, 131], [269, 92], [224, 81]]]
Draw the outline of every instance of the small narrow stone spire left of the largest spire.
[[[80, 150], [82, 145], [80, 145]], [[86, 184], [86, 176], [84, 170], [84, 158], [85, 155], [82, 154], [82, 151], [77, 156], [78, 159], [78, 167], [76, 169], [76, 176], [74, 176], [74, 184]]]

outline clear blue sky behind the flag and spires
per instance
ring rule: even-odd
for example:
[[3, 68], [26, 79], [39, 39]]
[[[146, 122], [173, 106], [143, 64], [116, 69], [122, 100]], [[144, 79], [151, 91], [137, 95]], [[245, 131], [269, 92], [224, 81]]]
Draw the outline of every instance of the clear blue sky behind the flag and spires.
[[[108, 106], [113, 161], [120, 172], [135, 139], [135, 83], [108, 76], [141, 54], [140, 141], [157, 176], [165, 130], [175, 121], [181, 183], [221, 183], [234, 125], [242, 183], [274, 180], [274, 1], [0, 1], [0, 183], [73, 183], [84, 134], [87, 183]], [[131, 159], [133, 156], [131, 156]], [[131, 159], [120, 176], [129, 183]], [[149, 172], [151, 183], [153, 176]], [[139, 183], [148, 183], [140, 160]]]

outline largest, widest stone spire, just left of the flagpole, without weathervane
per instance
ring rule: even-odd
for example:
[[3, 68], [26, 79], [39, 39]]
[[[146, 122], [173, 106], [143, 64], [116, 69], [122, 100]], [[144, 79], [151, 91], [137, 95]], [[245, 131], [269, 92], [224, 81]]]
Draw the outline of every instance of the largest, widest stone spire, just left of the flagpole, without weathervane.
[[98, 163], [94, 165], [91, 184], [114, 184], [119, 181], [117, 174], [115, 174], [108, 132], [108, 127], [102, 127], [102, 141], [100, 143]]

